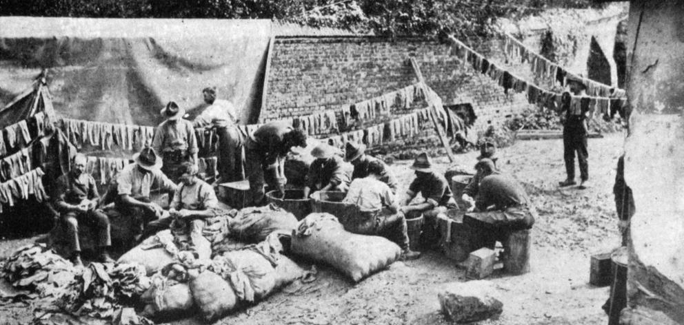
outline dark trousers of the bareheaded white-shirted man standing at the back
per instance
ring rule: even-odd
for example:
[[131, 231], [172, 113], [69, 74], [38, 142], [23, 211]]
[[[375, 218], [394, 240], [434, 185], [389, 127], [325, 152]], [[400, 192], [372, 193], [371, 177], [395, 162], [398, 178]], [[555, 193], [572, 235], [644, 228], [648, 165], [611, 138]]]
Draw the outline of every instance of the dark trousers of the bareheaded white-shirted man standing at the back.
[[220, 182], [237, 182], [245, 179], [242, 167], [242, 136], [235, 125], [216, 127], [219, 136], [217, 169]]

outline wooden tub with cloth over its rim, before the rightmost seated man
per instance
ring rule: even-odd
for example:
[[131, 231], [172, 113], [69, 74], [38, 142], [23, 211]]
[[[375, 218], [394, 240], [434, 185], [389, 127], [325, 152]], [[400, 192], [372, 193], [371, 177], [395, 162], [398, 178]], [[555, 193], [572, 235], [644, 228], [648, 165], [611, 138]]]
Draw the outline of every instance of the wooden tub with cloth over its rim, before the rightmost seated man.
[[441, 247], [444, 255], [456, 262], [467, 260], [470, 254], [470, 228], [463, 224], [465, 211], [451, 209], [437, 216]]

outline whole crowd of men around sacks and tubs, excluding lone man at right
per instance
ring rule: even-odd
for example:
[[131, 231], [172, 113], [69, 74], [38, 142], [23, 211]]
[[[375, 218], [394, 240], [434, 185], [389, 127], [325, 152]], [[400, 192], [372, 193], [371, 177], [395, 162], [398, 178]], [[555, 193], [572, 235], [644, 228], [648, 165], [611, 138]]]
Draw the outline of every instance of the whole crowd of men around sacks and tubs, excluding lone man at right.
[[[133, 156], [134, 162], [121, 170], [110, 189], [114, 192], [114, 209], [137, 220], [139, 240], [174, 222], [185, 223], [192, 238], [192, 234], [201, 233], [203, 220], [214, 216], [218, 200], [212, 185], [198, 176], [194, 127], [211, 125], [217, 130], [217, 182], [247, 178], [248, 205], [265, 204], [265, 185], [284, 194], [285, 156], [292, 147], [306, 147], [306, 135], [279, 122], [244, 134], [237, 127], [234, 107], [216, 95], [212, 88], [203, 90], [205, 103], [210, 106], [194, 122], [183, 118], [185, 112], [177, 103], [168, 103], [161, 110], [165, 120], [157, 127], [151, 147], [143, 147]], [[423, 244], [434, 246], [439, 239], [438, 216], [457, 207], [449, 183], [434, 170], [430, 156], [422, 153], [410, 167], [416, 177], [400, 197], [399, 183], [388, 166], [366, 154], [365, 149], [363, 144], [346, 143], [342, 158], [330, 145], [316, 146], [303, 190], [305, 196], [316, 191], [346, 192], [343, 202], [358, 208], [356, 220], [365, 220], [365, 226], [356, 231], [383, 235], [401, 247], [404, 259], [419, 258], [420, 253], [410, 249], [406, 220], [423, 216]], [[534, 222], [527, 194], [515, 180], [499, 173], [487, 151], [493, 152], [493, 147], [483, 146], [477, 174], [463, 196], [463, 201], [470, 203], [464, 222], [481, 229], [477, 239], [481, 242], [475, 248], [492, 246], [497, 231], [529, 228]], [[353, 166], [351, 173], [344, 162]], [[79, 227], [83, 226], [97, 229], [99, 258], [110, 262], [110, 222], [99, 209], [97, 186], [85, 169], [86, 156], [77, 154], [72, 170], [59, 178], [52, 197], [68, 225], [74, 264], [82, 264]], [[168, 211], [152, 200], [153, 191], [169, 194], [172, 200]], [[422, 200], [414, 200], [419, 194]]]

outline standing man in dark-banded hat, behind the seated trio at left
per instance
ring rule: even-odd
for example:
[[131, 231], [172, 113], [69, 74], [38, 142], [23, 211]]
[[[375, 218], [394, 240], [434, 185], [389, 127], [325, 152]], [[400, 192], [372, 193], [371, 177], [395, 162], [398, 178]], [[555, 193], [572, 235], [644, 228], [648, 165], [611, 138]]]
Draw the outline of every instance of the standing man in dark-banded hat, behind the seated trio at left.
[[185, 109], [181, 109], [175, 102], [170, 101], [161, 110], [161, 115], [166, 118], [154, 131], [152, 149], [161, 154], [163, 171], [168, 178], [177, 183], [182, 171], [183, 162], [192, 162], [197, 165], [197, 137], [189, 120], [183, 119]]

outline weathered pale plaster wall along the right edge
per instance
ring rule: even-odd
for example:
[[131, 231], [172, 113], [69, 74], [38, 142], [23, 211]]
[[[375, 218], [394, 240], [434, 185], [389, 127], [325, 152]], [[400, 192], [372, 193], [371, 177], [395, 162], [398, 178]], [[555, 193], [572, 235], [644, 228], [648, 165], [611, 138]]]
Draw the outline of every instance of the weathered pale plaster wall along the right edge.
[[628, 34], [625, 180], [636, 213], [625, 315], [652, 316], [622, 324], [684, 324], [684, 2], [632, 1]]

